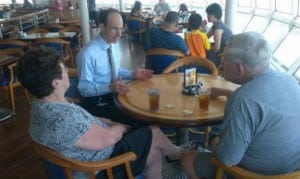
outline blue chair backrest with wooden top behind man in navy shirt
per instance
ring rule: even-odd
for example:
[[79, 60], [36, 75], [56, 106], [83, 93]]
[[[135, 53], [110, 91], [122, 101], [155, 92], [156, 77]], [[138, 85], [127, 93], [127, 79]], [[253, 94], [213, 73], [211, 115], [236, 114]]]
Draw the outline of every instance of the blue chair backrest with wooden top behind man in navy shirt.
[[185, 54], [178, 50], [153, 48], [146, 51], [146, 68], [152, 69], [155, 74], [160, 74], [172, 62]]

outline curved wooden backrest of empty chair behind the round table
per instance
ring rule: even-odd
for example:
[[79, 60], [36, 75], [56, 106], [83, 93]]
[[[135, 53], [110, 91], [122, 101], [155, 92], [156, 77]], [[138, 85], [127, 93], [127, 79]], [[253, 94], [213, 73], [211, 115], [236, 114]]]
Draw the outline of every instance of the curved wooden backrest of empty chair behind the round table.
[[[209, 73], [212, 75], [218, 75], [218, 69], [214, 65], [213, 62], [203, 59], [201, 57], [184, 57], [178, 59], [171, 63], [163, 73], [171, 73], [171, 72], [181, 72], [181, 67], [189, 67], [195, 66], [197, 67], [197, 72], [199, 73]], [[207, 71], [208, 70], [208, 71]]]

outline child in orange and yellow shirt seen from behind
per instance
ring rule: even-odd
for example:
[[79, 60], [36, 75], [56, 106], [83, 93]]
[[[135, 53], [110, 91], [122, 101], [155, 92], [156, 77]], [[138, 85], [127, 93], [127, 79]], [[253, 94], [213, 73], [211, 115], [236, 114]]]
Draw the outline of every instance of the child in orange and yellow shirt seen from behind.
[[192, 14], [189, 18], [191, 32], [185, 33], [185, 42], [190, 49], [191, 56], [206, 58], [206, 50], [210, 50], [210, 42], [206, 33], [201, 32], [202, 17], [200, 14]]

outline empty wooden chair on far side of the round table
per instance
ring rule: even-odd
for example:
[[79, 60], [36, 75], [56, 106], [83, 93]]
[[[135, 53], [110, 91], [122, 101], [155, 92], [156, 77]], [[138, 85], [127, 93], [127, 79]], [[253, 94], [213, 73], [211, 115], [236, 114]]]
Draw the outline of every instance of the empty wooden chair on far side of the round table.
[[[204, 67], [209, 71], [211, 75], [217, 76], [218, 75], [218, 69], [214, 65], [213, 62], [203, 59], [201, 57], [184, 57], [181, 59], [178, 59], [171, 63], [164, 71], [163, 73], [171, 73], [171, 72], [179, 72], [180, 67], [185, 66], [197, 66], [197, 67]], [[198, 71], [198, 70], [197, 70]], [[198, 71], [199, 72], [199, 71]], [[201, 133], [196, 129], [190, 129], [192, 132]], [[211, 131], [211, 127], [207, 126], [204, 128], [204, 146], [207, 147], [209, 143], [209, 133]]]

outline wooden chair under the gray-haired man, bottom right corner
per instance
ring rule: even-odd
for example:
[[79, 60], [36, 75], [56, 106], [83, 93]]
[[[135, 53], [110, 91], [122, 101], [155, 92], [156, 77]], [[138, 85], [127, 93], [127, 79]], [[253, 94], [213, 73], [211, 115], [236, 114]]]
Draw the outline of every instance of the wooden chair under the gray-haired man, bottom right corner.
[[299, 179], [300, 171], [279, 175], [261, 175], [238, 166], [228, 167], [217, 158], [211, 158], [210, 162], [217, 167], [216, 179], [222, 179], [223, 171], [238, 179]]

